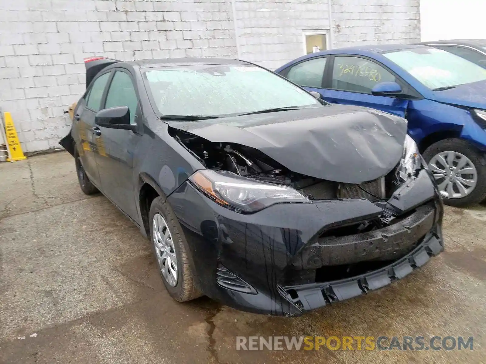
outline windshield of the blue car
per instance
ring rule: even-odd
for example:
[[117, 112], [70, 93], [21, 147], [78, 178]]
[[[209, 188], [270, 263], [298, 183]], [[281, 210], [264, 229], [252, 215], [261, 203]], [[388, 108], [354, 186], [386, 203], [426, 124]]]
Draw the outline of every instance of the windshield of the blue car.
[[435, 48], [416, 48], [384, 53], [430, 89], [486, 80], [486, 69]]

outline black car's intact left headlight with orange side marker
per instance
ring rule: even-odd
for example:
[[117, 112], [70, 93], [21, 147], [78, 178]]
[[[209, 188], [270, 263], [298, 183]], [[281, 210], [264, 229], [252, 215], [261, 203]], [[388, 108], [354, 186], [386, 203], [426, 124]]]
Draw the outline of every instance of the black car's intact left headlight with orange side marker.
[[190, 178], [203, 193], [226, 207], [256, 212], [282, 202], [310, 202], [292, 187], [259, 182], [231, 172], [203, 169]]

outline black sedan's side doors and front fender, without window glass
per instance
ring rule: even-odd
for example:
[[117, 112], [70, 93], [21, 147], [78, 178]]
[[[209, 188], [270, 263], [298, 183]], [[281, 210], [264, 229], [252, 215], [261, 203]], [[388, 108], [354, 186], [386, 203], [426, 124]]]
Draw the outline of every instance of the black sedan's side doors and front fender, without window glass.
[[[91, 167], [92, 172], [88, 173], [89, 178], [126, 215], [139, 226], [143, 226], [139, 207], [141, 175], [144, 175], [145, 178], [150, 177], [160, 191], [168, 196], [195, 170], [204, 168], [204, 166], [169, 135], [167, 124], [153, 115], [150, 121], [147, 120], [146, 115], [153, 114], [153, 110], [139, 69], [136, 66], [118, 62], [105, 66], [103, 73], [112, 72], [113, 69], [124, 69], [132, 75], [140, 101], [140, 115], [136, 119], [139, 124], [139, 132], [99, 127], [100, 135], [95, 135], [91, 130], [95, 127], [95, 113], [86, 108], [86, 100], [82, 98], [75, 110], [75, 114], [81, 113], [81, 117], [80, 120], [73, 121], [71, 135], [80, 155], [84, 157], [83, 165], [86, 163]], [[110, 82], [107, 83], [106, 89], [109, 84]], [[106, 90], [102, 105], [104, 105], [105, 99]], [[85, 125], [84, 114], [89, 114], [89, 120], [92, 119], [89, 125]], [[148, 126], [149, 123], [152, 127]], [[157, 132], [152, 132], [152, 130]], [[64, 144], [69, 148], [68, 139]], [[86, 157], [87, 155], [89, 159]], [[151, 158], [151, 156], [164, 157]], [[188, 163], [188, 160], [192, 164]]]

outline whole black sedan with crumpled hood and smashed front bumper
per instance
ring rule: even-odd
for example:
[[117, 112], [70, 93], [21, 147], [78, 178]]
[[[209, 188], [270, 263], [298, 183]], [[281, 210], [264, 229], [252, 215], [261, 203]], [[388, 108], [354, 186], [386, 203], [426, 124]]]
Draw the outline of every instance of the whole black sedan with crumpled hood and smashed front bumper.
[[330, 106], [238, 60], [86, 67], [60, 144], [81, 189], [150, 238], [174, 299], [299, 315], [443, 250], [442, 201], [405, 119]]

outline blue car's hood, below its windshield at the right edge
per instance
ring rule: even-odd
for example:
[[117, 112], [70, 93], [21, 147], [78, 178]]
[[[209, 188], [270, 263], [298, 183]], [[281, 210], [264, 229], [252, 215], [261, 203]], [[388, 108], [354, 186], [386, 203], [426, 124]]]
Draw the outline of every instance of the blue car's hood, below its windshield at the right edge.
[[486, 109], [486, 80], [462, 84], [450, 90], [435, 91], [434, 99], [454, 105]]

